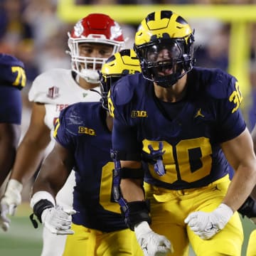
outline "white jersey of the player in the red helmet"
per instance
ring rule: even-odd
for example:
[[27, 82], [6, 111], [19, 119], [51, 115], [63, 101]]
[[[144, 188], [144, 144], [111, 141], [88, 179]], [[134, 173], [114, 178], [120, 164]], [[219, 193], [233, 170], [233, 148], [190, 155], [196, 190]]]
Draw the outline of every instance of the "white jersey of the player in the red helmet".
[[[95, 87], [94, 90], [100, 92], [100, 87]], [[73, 79], [71, 70], [55, 68], [38, 75], [28, 92], [28, 100], [45, 105], [44, 122], [53, 130], [60, 110], [76, 102], [97, 102], [100, 95], [80, 87]]]

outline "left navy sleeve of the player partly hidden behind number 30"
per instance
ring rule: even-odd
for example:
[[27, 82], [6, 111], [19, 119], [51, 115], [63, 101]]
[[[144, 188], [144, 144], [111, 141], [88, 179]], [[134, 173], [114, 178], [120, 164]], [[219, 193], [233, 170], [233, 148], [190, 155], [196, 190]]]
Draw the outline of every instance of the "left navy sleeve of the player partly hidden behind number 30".
[[60, 116], [55, 122], [55, 132], [54, 132], [54, 138], [56, 142], [64, 146], [66, 149], [73, 150], [73, 139], [72, 134], [68, 132], [68, 126], [66, 125], [65, 119], [68, 115], [68, 109], [67, 107], [65, 110], [62, 110], [60, 112]]

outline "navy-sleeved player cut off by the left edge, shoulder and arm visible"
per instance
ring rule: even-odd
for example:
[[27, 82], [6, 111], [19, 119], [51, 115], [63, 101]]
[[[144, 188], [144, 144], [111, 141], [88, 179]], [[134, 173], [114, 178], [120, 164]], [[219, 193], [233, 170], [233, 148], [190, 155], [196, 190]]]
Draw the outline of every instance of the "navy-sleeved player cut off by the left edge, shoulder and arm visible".
[[[25, 85], [26, 73], [21, 60], [0, 53], [0, 187], [14, 165], [21, 137], [21, 90]], [[11, 191], [13, 186], [15, 184], [11, 183]], [[1, 215], [5, 215], [5, 210], [1, 209]], [[6, 231], [9, 220], [0, 220], [0, 225]]]

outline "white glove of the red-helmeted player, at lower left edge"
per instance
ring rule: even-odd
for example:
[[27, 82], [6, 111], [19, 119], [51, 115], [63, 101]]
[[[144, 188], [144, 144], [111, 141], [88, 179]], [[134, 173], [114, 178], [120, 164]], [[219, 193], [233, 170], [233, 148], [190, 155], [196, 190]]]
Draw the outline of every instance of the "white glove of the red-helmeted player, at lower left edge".
[[16, 207], [21, 204], [22, 188], [22, 184], [13, 178], [7, 183], [6, 191], [0, 202], [0, 226], [4, 231], [9, 229], [9, 223], [11, 222], [7, 215], [13, 216], [16, 212]]

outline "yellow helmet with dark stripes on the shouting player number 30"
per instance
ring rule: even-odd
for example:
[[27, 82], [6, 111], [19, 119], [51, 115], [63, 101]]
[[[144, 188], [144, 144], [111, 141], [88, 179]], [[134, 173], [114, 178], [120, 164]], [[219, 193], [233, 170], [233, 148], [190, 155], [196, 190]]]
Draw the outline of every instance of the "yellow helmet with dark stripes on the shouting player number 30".
[[144, 78], [162, 87], [174, 85], [193, 68], [193, 31], [172, 11], [155, 11], [140, 23], [134, 50]]

